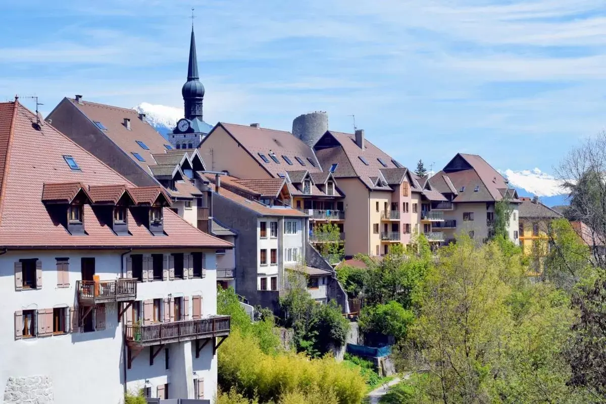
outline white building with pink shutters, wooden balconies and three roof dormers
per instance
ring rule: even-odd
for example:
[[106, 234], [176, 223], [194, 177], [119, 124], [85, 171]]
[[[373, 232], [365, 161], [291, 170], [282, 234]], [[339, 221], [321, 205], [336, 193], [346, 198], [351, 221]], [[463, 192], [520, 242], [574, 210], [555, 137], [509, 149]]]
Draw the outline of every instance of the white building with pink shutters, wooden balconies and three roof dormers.
[[0, 179], [4, 403], [212, 400], [230, 325], [215, 252], [232, 244], [17, 101], [0, 103]]

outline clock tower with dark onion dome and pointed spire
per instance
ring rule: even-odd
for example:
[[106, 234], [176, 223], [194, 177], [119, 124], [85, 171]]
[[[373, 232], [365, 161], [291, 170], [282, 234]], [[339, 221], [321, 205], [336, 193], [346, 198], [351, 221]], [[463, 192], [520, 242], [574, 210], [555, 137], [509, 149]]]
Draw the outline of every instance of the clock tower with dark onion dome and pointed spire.
[[176, 128], [168, 134], [168, 140], [176, 149], [195, 149], [213, 127], [202, 120], [202, 102], [204, 85], [198, 75], [198, 58], [196, 57], [196, 36], [191, 25], [189, 63], [187, 82], [181, 88], [184, 101], [184, 118], [179, 119]]

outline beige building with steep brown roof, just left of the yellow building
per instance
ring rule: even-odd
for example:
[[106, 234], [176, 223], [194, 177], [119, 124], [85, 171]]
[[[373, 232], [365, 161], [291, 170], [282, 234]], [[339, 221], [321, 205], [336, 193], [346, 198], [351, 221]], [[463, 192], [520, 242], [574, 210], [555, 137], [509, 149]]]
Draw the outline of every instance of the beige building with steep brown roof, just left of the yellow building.
[[461, 232], [479, 241], [487, 239], [493, 231], [495, 204], [505, 199], [511, 209], [509, 238], [519, 244], [518, 209], [521, 201], [518, 193], [484, 158], [458, 153], [429, 182], [435, 191], [447, 198], [447, 201], [431, 203], [431, 210], [444, 212], [442, 227], [435, 226], [435, 229], [444, 232], [445, 241], [456, 238]]

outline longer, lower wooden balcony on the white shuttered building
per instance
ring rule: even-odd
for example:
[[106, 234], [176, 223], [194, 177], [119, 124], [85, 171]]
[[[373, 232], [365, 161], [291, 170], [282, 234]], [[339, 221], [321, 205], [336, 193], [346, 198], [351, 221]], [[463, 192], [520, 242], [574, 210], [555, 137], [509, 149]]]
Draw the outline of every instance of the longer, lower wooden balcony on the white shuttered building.
[[126, 340], [128, 344], [149, 347], [170, 342], [227, 337], [229, 330], [230, 316], [213, 316], [198, 320], [127, 325]]

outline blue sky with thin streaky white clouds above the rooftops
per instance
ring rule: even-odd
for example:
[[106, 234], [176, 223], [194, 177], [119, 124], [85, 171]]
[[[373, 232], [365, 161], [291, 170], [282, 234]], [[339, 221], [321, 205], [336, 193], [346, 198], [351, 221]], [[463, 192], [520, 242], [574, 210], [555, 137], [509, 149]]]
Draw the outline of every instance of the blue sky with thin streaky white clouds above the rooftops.
[[604, 128], [603, 0], [10, 2], [0, 97], [180, 107], [191, 7], [211, 124], [355, 114], [408, 166], [461, 151], [548, 173]]

